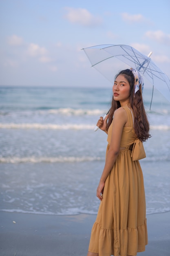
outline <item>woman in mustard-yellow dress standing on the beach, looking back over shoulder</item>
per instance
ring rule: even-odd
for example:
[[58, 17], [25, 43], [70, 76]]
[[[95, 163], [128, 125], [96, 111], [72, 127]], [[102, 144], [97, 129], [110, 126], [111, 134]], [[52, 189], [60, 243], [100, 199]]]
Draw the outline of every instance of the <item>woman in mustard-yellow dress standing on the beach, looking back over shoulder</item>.
[[143, 174], [139, 161], [132, 159], [134, 142], [142, 144], [150, 137], [142, 87], [136, 70], [119, 72], [110, 112], [97, 122], [108, 134], [108, 147], [97, 187], [101, 203], [87, 256], [135, 256], [148, 243]]

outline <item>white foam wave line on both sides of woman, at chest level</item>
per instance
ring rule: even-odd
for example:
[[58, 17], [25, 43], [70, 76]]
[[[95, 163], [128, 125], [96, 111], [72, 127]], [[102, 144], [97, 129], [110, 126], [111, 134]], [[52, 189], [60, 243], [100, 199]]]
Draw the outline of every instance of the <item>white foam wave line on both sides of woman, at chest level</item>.
[[[40, 129], [40, 130], [93, 130], [94, 125], [91, 124], [15, 124], [15, 123], [0, 123], [1, 129]], [[170, 130], [168, 125], [152, 125], [152, 130]]]

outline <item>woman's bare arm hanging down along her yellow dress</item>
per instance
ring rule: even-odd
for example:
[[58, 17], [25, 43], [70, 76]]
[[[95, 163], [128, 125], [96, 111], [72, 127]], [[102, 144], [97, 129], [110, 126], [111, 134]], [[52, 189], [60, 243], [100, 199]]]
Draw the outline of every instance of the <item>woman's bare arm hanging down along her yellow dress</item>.
[[110, 173], [113, 165], [115, 164], [115, 161], [119, 154], [121, 135], [124, 125], [127, 121], [128, 117], [124, 108], [118, 108], [114, 113], [110, 147], [106, 156], [106, 162], [104, 170], [102, 172], [102, 176], [100, 178], [99, 186], [97, 187], [97, 197], [99, 198], [99, 200], [102, 200], [101, 193], [104, 189], [105, 180], [108, 177], [108, 174]]

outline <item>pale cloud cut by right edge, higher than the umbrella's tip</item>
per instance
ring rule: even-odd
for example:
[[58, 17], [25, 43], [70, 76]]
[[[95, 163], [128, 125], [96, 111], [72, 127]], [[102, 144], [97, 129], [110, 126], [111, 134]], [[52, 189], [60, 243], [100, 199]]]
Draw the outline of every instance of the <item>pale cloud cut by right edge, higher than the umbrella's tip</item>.
[[151, 40], [157, 41], [157, 43], [170, 45], [170, 34], [165, 34], [161, 30], [147, 31], [145, 36]]

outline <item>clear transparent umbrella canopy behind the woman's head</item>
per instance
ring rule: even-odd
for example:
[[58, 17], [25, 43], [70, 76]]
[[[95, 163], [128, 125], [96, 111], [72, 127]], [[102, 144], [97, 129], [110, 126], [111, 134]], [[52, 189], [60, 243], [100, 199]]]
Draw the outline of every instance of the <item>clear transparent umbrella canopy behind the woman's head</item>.
[[125, 68], [137, 69], [141, 76], [144, 76], [148, 81], [146, 83], [144, 80], [143, 95], [144, 104], [148, 110], [162, 113], [161, 102], [167, 103], [169, 107], [170, 79], [151, 60], [152, 52], [146, 56], [129, 45], [96, 45], [83, 50], [92, 67], [95, 67], [112, 84], [115, 72], [122, 70], [122, 62], [126, 63]]

